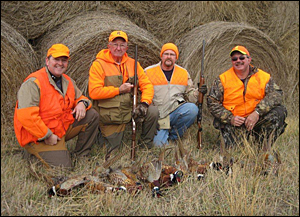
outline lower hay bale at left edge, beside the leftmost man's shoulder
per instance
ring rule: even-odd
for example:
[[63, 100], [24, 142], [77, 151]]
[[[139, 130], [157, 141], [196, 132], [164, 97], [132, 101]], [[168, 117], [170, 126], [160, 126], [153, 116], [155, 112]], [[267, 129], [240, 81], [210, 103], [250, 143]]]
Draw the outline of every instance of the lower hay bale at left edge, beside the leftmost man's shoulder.
[[1, 126], [13, 126], [17, 92], [23, 80], [37, 67], [38, 60], [31, 45], [1, 20]]

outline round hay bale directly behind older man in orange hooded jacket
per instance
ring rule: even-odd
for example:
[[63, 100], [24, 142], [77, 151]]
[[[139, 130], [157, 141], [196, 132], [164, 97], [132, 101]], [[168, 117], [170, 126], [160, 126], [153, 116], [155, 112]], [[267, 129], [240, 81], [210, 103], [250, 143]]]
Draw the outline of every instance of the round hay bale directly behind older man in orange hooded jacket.
[[161, 48], [160, 42], [148, 31], [124, 17], [90, 12], [81, 15], [47, 33], [40, 41], [41, 64], [45, 63], [47, 50], [55, 43], [63, 43], [70, 49], [70, 63], [67, 74], [73, 78], [85, 95], [88, 95], [88, 74], [97, 53], [107, 48], [108, 37], [114, 30], [122, 30], [129, 38], [128, 55], [134, 58], [138, 45], [138, 60], [143, 68], [157, 63]]

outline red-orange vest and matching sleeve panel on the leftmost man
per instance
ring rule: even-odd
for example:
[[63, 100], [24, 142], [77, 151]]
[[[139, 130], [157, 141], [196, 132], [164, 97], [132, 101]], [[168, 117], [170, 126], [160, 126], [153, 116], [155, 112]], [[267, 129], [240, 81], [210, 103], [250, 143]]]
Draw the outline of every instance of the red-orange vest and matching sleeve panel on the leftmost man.
[[[18, 101], [16, 103], [14, 127], [16, 137], [22, 147], [30, 142], [37, 143], [38, 138], [42, 138], [46, 135], [48, 128], [58, 137], [62, 138], [69, 126], [74, 122], [75, 119], [71, 112], [72, 108], [75, 107], [75, 89], [71, 79], [65, 74], [63, 74], [63, 76], [69, 81], [65, 96], [62, 96], [55, 90], [54, 86], [50, 84], [45, 67], [30, 74], [24, 80], [26, 81], [31, 77], [37, 78], [35, 83], [40, 88], [40, 104], [39, 107], [18, 109]], [[32, 117], [35, 118], [37, 117], [37, 119], [35, 121], [34, 118], [29, 117], [29, 119], [35, 121], [35, 123], [30, 127], [27, 126], [27, 129], [25, 129], [22, 122], [27, 121], [28, 115], [32, 115]], [[42, 121], [40, 121], [39, 117]], [[34, 136], [33, 133], [38, 136]]]

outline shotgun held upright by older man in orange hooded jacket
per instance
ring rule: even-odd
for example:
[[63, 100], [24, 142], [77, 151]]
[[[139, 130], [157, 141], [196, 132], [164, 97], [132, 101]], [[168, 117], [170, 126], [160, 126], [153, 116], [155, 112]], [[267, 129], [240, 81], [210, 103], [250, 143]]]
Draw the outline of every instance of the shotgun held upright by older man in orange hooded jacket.
[[[134, 86], [133, 86], [133, 103], [132, 111], [135, 111], [137, 107], [137, 45], [135, 45], [135, 56], [134, 56]], [[131, 142], [131, 160], [135, 159], [135, 146], [136, 146], [136, 123], [132, 115], [132, 142]]]

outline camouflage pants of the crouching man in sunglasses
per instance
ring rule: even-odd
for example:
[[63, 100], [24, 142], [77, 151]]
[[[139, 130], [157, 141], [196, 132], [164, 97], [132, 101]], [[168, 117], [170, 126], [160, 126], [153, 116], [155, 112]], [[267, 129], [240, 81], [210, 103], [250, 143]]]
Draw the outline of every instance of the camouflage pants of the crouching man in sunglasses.
[[258, 122], [251, 131], [247, 131], [244, 124], [236, 127], [231, 124], [222, 124], [217, 119], [214, 120], [213, 125], [221, 131], [226, 147], [239, 144], [244, 138], [248, 140], [250, 135], [254, 136], [258, 143], [262, 144], [266, 140], [269, 142], [269, 146], [272, 146], [276, 139], [285, 131], [287, 126], [287, 123], [285, 123], [286, 117], [287, 110], [280, 105], [266, 115], [259, 117]]

